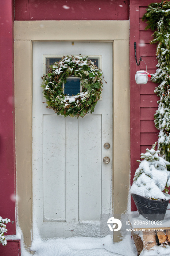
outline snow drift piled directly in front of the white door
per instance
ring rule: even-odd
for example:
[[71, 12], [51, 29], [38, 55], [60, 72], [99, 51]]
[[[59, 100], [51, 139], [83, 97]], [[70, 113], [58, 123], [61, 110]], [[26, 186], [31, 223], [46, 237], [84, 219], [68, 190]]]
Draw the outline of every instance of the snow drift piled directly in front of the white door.
[[[36, 256], [136, 256], [137, 251], [131, 236], [113, 244], [110, 235], [104, 238], [73, 237], [50, 240], [38, 239], [32, 243]], [[28, 254], [23, 256], [27, 256]]]

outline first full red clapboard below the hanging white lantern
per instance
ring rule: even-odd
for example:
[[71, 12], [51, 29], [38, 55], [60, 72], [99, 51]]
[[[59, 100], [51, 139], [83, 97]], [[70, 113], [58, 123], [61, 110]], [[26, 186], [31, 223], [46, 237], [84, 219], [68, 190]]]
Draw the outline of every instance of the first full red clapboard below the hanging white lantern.
[[140, 107], [141, 108], [158, 107], [158, 103], [157, 103], [158, 100], [159, 100], [159, 97], [156, 94], [155, 95], [142, 94], [142, 95], [140, 95]]

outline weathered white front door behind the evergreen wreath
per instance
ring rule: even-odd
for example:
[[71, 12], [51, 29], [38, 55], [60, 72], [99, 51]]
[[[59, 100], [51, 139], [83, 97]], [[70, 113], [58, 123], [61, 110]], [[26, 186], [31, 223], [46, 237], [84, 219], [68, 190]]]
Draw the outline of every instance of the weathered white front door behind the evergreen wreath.
[[[100, 236], [100, 215], [112, 213], [112, 51], [110, 42], [33, 43], [33, 214], [42, 237]], [[107, 83], [92, 114], [57, 116], [43, 103], [43, 70], [78, 54], [97, 59]]]

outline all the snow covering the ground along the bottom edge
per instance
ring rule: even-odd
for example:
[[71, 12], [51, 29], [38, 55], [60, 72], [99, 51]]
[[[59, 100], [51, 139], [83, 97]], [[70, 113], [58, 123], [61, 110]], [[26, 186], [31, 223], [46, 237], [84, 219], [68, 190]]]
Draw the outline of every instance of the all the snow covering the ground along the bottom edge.
[[[6, 239], [21, 239], [21, 256], [32, 256], [24, 248], [22, 231], [18, 228], [15, 237]], [[131, 234], [128, 233], [120, 242], [113, 243], [112, 236], [103, 238], [72, 237], [43, 240], [36, 236], [31, 250], [34, 256], [137, 256], [137, 250]], [[170, 256], [170, 246], [163, 248], [154, 246], [150, 251], [142, 251], [140, 256]]]

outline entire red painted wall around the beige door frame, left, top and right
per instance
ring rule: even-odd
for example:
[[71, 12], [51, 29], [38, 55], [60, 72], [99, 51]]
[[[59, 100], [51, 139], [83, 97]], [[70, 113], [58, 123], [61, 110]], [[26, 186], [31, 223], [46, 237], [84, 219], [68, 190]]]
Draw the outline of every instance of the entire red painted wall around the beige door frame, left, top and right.
[[[154, 73], [157, 64], [155, 46], [151, 46], [151, 31], [144, 31], [141, 17], [149, 3], [161, 0], [130, 0], [130, 104], [131, 104], [131, 177], [139, 163], [140, 153], [157, 140], [154, 113], [157, 109], [155, 84], [135, 83], [137, 56], [147, 63], [147, 71]], [[127, 20], [128, 0], [15, 0], [16, 20]], [[13, 0], [1, 0], [0, 8], [0, 215], [10, 218], [8, 234], [15, 234], [15, 151], [13, 109]], [[94, 31], [95, 33], [95, 31]], [[143, 62], [137, 70], [144, 69]], [[2, 93], [3, 92], [3, 93]], [[135, 210], [134, 204], [132, 210]], [[7, 247], [6, 247], [7, 248]], [[5, 254], [4, 254], [5, 255]], [[7, 254], [9, 255], [9, 254]]]

